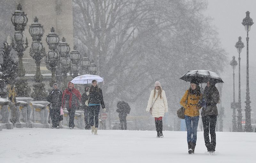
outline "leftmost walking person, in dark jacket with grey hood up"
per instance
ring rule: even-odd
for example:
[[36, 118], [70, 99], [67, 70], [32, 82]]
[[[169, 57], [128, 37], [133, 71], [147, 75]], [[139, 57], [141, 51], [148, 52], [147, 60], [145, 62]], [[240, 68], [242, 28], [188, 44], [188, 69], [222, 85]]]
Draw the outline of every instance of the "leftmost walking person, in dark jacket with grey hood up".
[[[58, 89], [58, 84], [53, 84], [53, 89], [48, 93], [47, 101], [50, 102], [50, 116], [52, 119], [52, 128], [60, 128], [60, 107], [62, 100], [62, 92]], [[63, 119], [63, 116], [62, 116]]]

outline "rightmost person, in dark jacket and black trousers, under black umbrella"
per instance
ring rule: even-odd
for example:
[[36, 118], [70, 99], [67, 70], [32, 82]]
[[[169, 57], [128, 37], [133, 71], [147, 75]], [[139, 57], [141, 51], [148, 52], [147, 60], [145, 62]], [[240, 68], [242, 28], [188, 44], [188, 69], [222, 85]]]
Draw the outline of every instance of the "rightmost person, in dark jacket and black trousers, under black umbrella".
[[[210, 154], [213, 154], [216, 147], [215, 128], [218, 115], [218, 108], [216, 107], [216, 105], [220, 100], [220, 94], [218, 89], [215, 87], [214, 80], [210, 79], [210, 81], [207, 82], [207, 85], [204, 89], [203, 97], [206, 103], [206, 107], [203, 107], [201, 112], [204, 128], [204, 143], [207, 151]], [[211, 134], [211, 142], [209, 138], [209, 131]]]

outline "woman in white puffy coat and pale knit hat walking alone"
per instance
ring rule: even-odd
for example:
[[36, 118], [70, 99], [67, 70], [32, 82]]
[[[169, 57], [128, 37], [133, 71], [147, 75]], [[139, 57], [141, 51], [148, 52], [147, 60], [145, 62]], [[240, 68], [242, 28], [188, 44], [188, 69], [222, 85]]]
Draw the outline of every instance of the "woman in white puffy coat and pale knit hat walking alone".
[[159, 81], [155, 83], [155, 89], [151, 91], [149, 99], [148, 99], [148, 106], [146, 111], [149, 112], [150, 107], [152, 107], [152, 117], [155, 118], [156, 124], [156, 137], [164, 137], [163, 135], [163, 121], [162, 118], [164, 113], [168, 112], [168, 105], [167, 99], [165, 96], [164, 90], [162, 90], [161, 84]]

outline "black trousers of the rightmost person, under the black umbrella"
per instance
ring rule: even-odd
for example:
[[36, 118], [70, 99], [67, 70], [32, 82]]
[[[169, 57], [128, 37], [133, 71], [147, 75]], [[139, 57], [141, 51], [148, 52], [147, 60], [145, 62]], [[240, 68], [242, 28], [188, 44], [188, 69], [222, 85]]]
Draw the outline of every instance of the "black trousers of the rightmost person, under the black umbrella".
[[[216, 122], [217, 115], [208, 115], [202, 117], [203, 127], [204, 127], [204, 143], [207, 151], [215, 151], [216, 147]], [[211, 134], [211, 141], [209, 137], [209, 131]]]

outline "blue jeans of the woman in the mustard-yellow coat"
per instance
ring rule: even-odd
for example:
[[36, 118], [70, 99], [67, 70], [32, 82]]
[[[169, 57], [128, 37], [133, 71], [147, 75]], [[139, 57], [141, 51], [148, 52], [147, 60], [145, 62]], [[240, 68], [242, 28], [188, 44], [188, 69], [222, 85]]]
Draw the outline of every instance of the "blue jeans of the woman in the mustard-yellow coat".
[[196, 143], [198, 121], [199, 121], [199, 116], [190, 117], [188, 115], [185, 115], [188, 143], [189, 142]]

